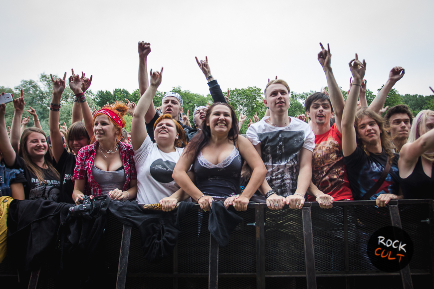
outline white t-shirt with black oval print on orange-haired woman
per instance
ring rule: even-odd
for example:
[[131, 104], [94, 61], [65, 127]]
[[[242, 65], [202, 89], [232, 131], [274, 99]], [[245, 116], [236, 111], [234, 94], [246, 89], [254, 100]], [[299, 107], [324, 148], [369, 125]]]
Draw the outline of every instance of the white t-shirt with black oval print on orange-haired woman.
[[179, 190], [179, 185], [172, 178], [173, 169], [184, 148], [163, 152], [146, 135], [139, 149], [134, 150], [137, 170], [137, 198], [139, 204], [156, 204], [164, 197]]

